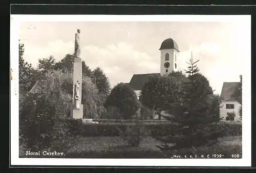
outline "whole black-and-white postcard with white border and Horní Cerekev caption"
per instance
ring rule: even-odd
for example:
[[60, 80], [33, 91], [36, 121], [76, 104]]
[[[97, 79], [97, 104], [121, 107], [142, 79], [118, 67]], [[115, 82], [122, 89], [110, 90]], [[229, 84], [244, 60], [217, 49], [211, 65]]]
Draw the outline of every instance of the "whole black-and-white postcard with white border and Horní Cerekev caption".
[[10, 44], [12, 165], [251, 165], [249, 15], [11, 15]]

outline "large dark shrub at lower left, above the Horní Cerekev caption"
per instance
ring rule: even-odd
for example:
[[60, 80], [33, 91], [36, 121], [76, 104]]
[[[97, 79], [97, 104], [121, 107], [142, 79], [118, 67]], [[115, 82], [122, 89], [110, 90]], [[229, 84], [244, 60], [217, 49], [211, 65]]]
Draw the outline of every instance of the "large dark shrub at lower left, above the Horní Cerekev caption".
[[67, 130], [61, 121], [63, 114], [60, 110], [63, 109], [58, 109], [47, 94], [29, 94], [25, 103], [27, 106], [22, 106], [19, 112], [19, 132], [27, 147], [37, 150], [60, 147], [55, 145], [56, 139], [61, 143], [61, 135]]

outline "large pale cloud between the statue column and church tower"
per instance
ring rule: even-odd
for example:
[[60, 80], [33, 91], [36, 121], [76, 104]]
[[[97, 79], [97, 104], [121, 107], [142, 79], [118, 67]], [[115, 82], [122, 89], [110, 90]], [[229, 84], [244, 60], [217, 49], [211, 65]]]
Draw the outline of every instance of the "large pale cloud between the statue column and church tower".
[[81, 57], [92, 69], [99, 66], [109, 77], [111, 85], [118, 82], [130, 82], [133, 74], [158, 72], [158, 59], [153, 59], [145, 52], [137, 51], [125, 42], [105, 47], [85, 46]]

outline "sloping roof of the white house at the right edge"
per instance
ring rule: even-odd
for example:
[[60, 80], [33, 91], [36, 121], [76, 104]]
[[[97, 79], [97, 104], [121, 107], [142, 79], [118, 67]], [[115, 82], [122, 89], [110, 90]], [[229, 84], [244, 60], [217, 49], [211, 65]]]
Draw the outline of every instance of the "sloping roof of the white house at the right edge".
[[234, 91], [236, 91], [237, 84], [239, 82], [223, 82], [221, 96], [224, 97], [224, 101], [237, 101], [235, 98], [232, 97]]

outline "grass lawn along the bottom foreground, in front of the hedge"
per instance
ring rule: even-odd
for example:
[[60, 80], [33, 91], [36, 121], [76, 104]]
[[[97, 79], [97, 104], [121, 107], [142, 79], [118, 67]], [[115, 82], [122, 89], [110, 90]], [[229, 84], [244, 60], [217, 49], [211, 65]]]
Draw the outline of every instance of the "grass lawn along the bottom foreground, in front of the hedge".
[[[219, 138], [218, 143], [211, 146], [187, 148], [162, 152], [156, 145], [160, 141], [152, 137], [141, 140], [139, 147], [131, 147], [121, 137], [81, 137], [70, 140], [72, 147], [65, 153], [65, 158], [173, 158], [184, 155], [223, 155], [221, 158], [232, 158], [232, 154], [239, 154], [242, 158], [242, 137], [229, 136]], [[26, 151], [20, 150], [20, 157], [25, 156]], [[35, 156], [34, 156], [35, 157]], [[37, 156], [38, 157], [38, 156]], [[40, 156], [46, 157], [46, 156]], [[53, 157], [51, 157], [53, 158]], [[56, 157], [58, 158], [58, 157]], [[63, 158], [63, 156], [61, 157]], [[184, 158], [184, 157], [183, 157]]]

